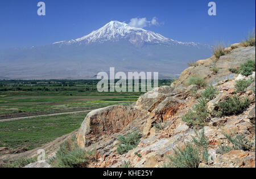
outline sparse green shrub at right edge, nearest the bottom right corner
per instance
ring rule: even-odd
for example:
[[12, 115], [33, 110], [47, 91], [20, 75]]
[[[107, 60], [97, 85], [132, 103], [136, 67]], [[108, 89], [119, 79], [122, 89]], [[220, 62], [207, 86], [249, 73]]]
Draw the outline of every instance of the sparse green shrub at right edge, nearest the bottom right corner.
[[251, 148], [255, 147], [255, 141], [254, 142], [249, 142], [248, 139], [243, 137], [243, 135], [234, 135], [232, 137], [229, 134], [223, 133], [224, 136], [233, 144], [233, 149], [234, 150], [243, 150], [243, 151], [248, 151]]

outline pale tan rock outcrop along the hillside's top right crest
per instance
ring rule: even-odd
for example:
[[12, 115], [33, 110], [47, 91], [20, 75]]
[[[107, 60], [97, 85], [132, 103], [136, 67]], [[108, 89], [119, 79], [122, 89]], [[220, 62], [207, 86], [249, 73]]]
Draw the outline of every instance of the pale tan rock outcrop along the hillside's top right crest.
[[[233, 45], [234, 46], [234, 45]], [[214, 56], [196, 62], [196, 66], [185, 69], [180, 78], [171, 86], [179, 89], [187, 86], [187, 80], [190, 76], [199, 76], [204, 78], [208, 84], [216, 85], [227, 79], [233, 79], [236, 74], [229, 71], [230, 68], [238, 68], [241, 63], [245, 63], [248, 59], [255, 59], [255, 46], [242, 47], [235, 44], [235, 48], [231, 48], [229, 53], [216, 59]], [[218, 69], [217, 74], [211, 70], [212, 67]]]

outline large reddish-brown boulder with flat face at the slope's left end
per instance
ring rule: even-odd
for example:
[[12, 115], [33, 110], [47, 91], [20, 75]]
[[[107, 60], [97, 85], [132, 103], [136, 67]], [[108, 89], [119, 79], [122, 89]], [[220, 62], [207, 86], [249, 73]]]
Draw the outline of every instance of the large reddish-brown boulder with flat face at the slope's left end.
[[77, 134], [77, 142], [82, 148], [89, 146], [105, 135], [118, 133], [131, 121], [141, 116], [142, 113], [139, 110], [122, 105], [93, 110], [82, 122]]

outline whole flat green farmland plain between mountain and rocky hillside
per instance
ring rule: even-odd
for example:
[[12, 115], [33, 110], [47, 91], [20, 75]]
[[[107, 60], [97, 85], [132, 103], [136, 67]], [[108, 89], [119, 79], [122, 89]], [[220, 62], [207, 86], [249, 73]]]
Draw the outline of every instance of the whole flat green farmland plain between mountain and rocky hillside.
[[[159, 80], [170, 86], [172, 80]], [[0, 80], [0, 147], [31, 150], [78, 129], [86, 113], [3, 119], [130, 105], [144, 92], [97, 92], [98, 80]]]

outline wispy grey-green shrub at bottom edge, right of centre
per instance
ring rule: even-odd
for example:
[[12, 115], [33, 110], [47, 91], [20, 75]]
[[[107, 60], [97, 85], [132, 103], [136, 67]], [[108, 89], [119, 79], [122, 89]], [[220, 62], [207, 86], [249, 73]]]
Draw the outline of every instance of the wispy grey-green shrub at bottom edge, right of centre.
[[192, 144], [185, 145], [184, 149], [177, 148], [175, 155], [170, 156], [171, 167], [176, 168], [198, 168], [200, 164], [199, 152]]

